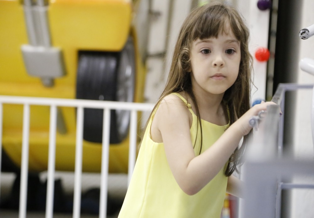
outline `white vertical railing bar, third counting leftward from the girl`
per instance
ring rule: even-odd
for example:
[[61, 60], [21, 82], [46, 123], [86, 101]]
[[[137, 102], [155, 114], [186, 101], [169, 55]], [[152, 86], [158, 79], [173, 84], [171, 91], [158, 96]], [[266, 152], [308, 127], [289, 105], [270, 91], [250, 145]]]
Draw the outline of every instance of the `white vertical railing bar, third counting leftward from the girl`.
[[80, 217], [81, 189], [82, 189], [82, 153], [83, 153], [83, 107], [77, 108], [76, 119], [76, 147], [75, 147], [75, 170], [74, 170], [74, 202], [73, 218]]

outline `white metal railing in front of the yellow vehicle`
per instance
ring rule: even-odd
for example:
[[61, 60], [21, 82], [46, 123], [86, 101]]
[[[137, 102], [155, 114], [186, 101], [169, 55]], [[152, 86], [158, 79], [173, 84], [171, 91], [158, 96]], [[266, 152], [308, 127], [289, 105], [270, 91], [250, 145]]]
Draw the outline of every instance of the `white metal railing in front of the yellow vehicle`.
[[[27, 176], [29, 158], [29, 137], [30, 137], [30, 105], [50, 106], [49, 126], [49, 154], [47, 172], [47, 196], [46, 196], [46, 218], [53, 217], [53, 193], [55, 176], [55, 155], [56, 155], [56, 128], [57, 128], [57, 107], [77, 108], [76, 118], [76, 148], [75, 148], [75, 169], [74, 169], [74, 197], [73, 197], [73, 218], [80, 217], [81, 207], [81, 177], [82, 177], [82, 146], [83, 146], [83, 116], [84, 108], [103, 109], [103, 140], [102, 158], [100, 172], [100, 208], [99, 217], [106, 217], [107, 194], [108, 194], [108, 165], [109, 165], [109, 136], [110, 136], [110, 110], [129, 110], [130, 134], [129, 134], [129, 160], [128, 160], [128, 183], [133, 173], [136, 161], [137, 149], [137, 112], [151, 111], [154, 107], [149, 103], [116, 102], [116, 101], [94, 101], [80, 99], [57, 99], [39, 97], [19, 97], [0, 95], [0, 142], [2, 142], [3, 128], [3, 104], [24, 105], [23, 108], [23, 132], [22, 132], [22, 161], [21, 161], [21, 182], [19, 218], [26, 217], [27, 204]], [[0, 152], [2, 143], [0, 143]], [[1, 159], [1, 153], [0, 153]], [[1, 160], [0, 160], [1, 163]], [[1, 165], [0, 165], [1, 172]], [[1, 176], [1, 173], [0, 173]], [[104, 206], [101, 206], [104, 205]]]

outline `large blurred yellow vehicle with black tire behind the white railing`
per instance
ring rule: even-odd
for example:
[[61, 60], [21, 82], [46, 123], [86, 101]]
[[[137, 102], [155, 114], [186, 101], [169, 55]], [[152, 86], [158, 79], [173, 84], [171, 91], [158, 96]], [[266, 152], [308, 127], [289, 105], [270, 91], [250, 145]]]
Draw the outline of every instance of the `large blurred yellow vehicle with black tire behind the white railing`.
[[[143, 101], [131, 0], [0, 0], [0, 95]], [[127, 172], [128, 117], [111, 111], [109, 172]], [[56, 170], [73, 171], [75, 108], [58, 108]], [[23, 108], [3, 105], [3, 153], [21, 164]], [[100, 172], [102, 111], [84, 109], [83, 171]], [[30, 107], [29, 170], [47, 169], [49, 108]], [[5, 169], [5, 163], [2, 165]]]

